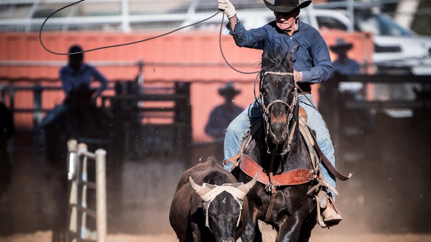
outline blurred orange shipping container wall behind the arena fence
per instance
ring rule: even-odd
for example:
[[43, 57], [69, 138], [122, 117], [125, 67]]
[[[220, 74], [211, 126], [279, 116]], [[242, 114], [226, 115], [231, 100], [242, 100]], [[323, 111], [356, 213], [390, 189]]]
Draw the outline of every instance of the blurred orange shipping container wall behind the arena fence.
[[[84, 49], [133, 42], [157, 35], [142, 33], [102, 32], [45, 32], [43, 44], [54, 52], [65, 53], [72, 44]], [[367, 33], [322, 32], [328, 45], [339, 37], [353, 42], [350, 57], [359, 63], [371, 63], [373, 44]], [[245, 72], [258, 70], [261, 50], [239, 48], [231, 36], [221, 36], [221, 46], [227, 61], [236, 69]], [[331, 57], [333, 55], [331, 53]], [[7, 78], [58, 78], [59, 67], [66, 63], [66, 55], [55, 55], [46, 51], [39, 43], [38, 33], [0, 34], [0, 76]], [[220, 53], [218, 32], [175, 32], [148, 41], [106, 48], [84, 54], [84, 60], [95, 65], [108, 80], [133, 80], [138, 74], [138, 61], [143, 63], [144, 83], [173, 81], [192, 82], [192, 136], [194, 142], [208, 141], [204, 126], [210, 110], [223, 102], [217, 89], [224, 82], [234, 81], [241, 93], [235, 103], [245, 107], [254, 100], [253, 83], [256, 74], [242, 74], [231, 69]], [[318, 102], [318, 85], [313, 86]], [[58, 95], [58, 94], [57, 94]], [[45, 103], [52, 107], [56, 103]], [[29, 100], [31, 101], [31, 100]], [[52, 101], [51, 101], [52, 102]], [[31, 106], [31, 104], [29, 105]], [[30, 122], [30, 121], [29, 121]], [[31, 123], [31, 122], [30, 122]]]

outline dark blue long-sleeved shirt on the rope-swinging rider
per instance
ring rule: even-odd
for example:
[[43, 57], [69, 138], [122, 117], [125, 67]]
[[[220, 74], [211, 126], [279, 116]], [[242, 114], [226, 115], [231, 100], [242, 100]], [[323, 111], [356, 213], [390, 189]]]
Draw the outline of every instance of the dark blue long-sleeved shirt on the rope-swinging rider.
[[302, 82], [319, 83], [330, 77], [331, 60], [326, 42], [317, 29], [304, 22], [297, 21], [297, 29], [292, 36], [280, 30], [276, 26], [275, 20], [250, 30], [245, 30], [239, 20], [236, 21], [233, 31], [230, 29], [229, 23], [226, 27], [239, 47], [265, 51], [281, 46], [284, 51], [290, 51], [296, 44], [299, 44], [293, 58], [293, 66], [296, 71], [302, 72]]

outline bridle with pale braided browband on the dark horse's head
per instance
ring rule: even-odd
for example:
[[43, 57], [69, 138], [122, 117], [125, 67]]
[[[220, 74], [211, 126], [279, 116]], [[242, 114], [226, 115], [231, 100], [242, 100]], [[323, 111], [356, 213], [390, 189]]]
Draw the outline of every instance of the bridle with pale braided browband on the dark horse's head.
[[[285, 75], [293, 76], [292, 72], [265, 71], [265, 73], [263, 73], [263, 77], [262, 77], [261, 82], [260, 82], [260, 88], [262, 87], [263, 79], [264, 79], [265, 75], [267, 75], [267, 74], [278, 75], [278, 76], [285, 76]], [[262, 101], [262, 106], [261, 106], [261, 108], [262, 108], [262, 116], [263, 116], [263, 120], [265, 122], [265, 143], [267, 143], [268, 135], [270, 133], [272, 133], [271, 129], [269, 128], [269, 123], [270, 122], [269, 122], [269, 118], [268, 118], [270, 107], [273, 104], [275, 104], [275, 103], [281, 103], [281, 104], [284, 104], [287, 107], [287, 113], [288, 113], [288, 116], [287, 116], [287, 127], [289, 127], [290, 120], [293, 118], [293, 109], [294, 109], [295, 105], [297, 104], [297, 100], [298, 100], [298, 92], [297, 92], [296, 84], [295, 84], [295, 87], [294, 87], [294, 94], [293, 95], [294, 96], [293, 96], [292, 102], [290, 104], [288, 104], [284, 100], [275, 99], [275, 100], [272, 100], [271, 102], [269, 102], [267, 105], [265, 105], [265, 103], [263, 101], [263, 94], [262, 94], [262, 92], [260, 92], [261, 101]], [[287, 152], [290, 151], [290, 144], [292, 142], [293, 131], [294, 131], [294, 128], [295, 128], [294, 126], [292, 127], [292, 130], [290, 131], [290, 134], [289, 134], [289, 137], [288, 137], [288, 141], [287, 141], [287, 147], [284, 150], [281, 151], [280, 155], [285, 155], [285, 154], [287, 154]], [[273, 152], [271, 152], [269, 150], [269, 147], [267, 145], [266, 145], [266, 152], [268, 154], [273, 154]]]

